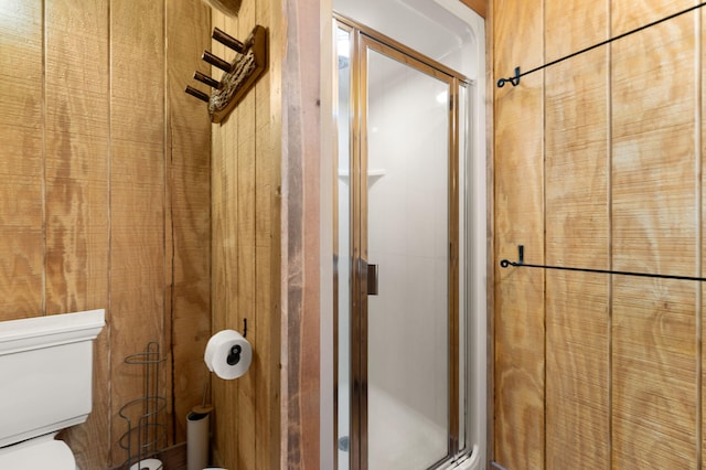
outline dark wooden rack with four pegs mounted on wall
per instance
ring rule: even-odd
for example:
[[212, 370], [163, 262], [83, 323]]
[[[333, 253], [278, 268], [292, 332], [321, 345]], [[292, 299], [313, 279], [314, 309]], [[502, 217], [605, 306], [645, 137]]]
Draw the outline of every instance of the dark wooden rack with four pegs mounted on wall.
[[211, 95], [186, 86], [189, 95], [208, 104], [212, 122], [221, 122], [243, 100], [267, 67], [267, 30], [256, 25], [244, 42], [214, 28], [212, 38], [236, 52], [233, 62], [227, 62], [208, 51], [204, 51], [202, 60], [224, 72], [221, 81], [216, 81], [201, 72], [194, 73], [194, 79], [208, 85]]

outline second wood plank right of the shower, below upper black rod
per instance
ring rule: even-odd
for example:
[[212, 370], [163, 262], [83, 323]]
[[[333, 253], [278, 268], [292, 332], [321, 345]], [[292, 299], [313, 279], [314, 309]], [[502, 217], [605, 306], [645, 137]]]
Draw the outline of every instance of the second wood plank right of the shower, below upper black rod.
[[[546, 72], [549, 265], [610, 268], [607, 66], [593, 51]], [[546, 273], [548, 469], [609, 466], [609, 292], [603, 275]]]

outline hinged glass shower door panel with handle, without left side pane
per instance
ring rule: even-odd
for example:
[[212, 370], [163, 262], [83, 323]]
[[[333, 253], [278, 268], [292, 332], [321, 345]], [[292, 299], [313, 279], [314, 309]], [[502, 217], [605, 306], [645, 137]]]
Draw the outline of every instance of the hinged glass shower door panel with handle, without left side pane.
[[361, 51], [361, 458], [427, 469], [458, 435], [452, 83], [375, 41]]

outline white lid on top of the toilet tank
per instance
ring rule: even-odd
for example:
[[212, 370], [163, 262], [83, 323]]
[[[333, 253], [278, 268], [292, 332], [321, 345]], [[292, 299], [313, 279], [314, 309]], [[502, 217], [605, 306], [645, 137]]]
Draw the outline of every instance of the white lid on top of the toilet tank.
[[0, 355], [94, 340], [105, 309], [0, 321]]

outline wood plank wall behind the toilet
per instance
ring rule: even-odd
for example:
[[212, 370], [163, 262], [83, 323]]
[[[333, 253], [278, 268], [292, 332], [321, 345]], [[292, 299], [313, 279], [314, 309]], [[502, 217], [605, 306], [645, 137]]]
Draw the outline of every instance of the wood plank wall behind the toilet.
[[211, 125], [182, 90], [208, 21], [195, 0], [0, 8], [0, 320], [106, 309], [93, 412], [63, 436], [82, 468], [127, 457], [126, 355], [164, 353], [164, 446], [207, 378]]

